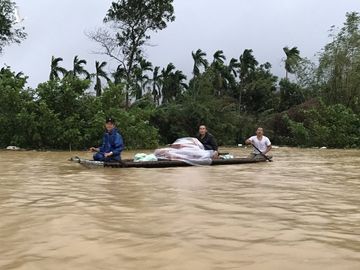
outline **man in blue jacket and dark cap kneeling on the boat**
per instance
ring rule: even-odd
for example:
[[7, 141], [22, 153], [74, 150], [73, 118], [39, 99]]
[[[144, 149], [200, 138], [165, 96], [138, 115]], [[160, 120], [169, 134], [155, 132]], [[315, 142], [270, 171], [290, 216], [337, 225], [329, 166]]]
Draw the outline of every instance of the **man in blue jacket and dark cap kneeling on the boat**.
[[121, 151], [124, 149], [124, 142], [119, 131], [115, 127], [113, 118], [107, 118], [105, 121], [105, 133], [101, 147], [91, 147], [90, 151], [94, 154], [96, 161], [120, 161]]

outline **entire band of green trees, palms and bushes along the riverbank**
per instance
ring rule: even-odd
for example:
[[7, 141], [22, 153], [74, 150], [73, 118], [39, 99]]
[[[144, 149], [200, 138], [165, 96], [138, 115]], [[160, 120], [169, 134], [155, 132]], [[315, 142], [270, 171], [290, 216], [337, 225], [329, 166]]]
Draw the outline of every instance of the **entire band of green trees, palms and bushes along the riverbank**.
[[[26, 34], [14, 30], [16, 21], [6, 9], [0, 12], [7, 20], [1, 17], [1, 26], [9, 30], [0, 29], [1, 51]], [[54, 56], [49, 80], [32, 89], [25, 74], [3, 67], [0, 147], [84, 149], [99, 143], [106, 116], [117, 120], [128, 148], [194, 136], [199, 124], [206, 124], [220, 145], [243, 143], [263, 126], [274, 144], [360, 147], [358, 13], [346, 14], [340, 29], [331, 28], [331, 40], [315, 63], [297, 47], [284, 47], [284, 78], [271, 72], [270, 63], [259, 63], [251, 49], [233, 58], [222, 50], [189, 52], [189, 77], [173, 63], [154, 66], [144, 54], [146, 41], [174, 19], [171, 0], [114, 2], [104, 20], [107, 28], [88, 34], [117, 61], [112, 73], [99, 61], [90, 74], [90, 63], [79, 56], [66, 70]]]

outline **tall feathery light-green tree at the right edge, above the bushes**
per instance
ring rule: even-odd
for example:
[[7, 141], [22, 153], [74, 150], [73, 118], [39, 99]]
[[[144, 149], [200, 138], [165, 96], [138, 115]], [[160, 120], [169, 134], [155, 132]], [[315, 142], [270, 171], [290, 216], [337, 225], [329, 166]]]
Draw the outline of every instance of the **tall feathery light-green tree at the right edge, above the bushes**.
[[331, 37], [317, 71], [323, 97], [360, 113], [360, 14], [347, 13], [344, 26], [338, 33], [332, 28]]

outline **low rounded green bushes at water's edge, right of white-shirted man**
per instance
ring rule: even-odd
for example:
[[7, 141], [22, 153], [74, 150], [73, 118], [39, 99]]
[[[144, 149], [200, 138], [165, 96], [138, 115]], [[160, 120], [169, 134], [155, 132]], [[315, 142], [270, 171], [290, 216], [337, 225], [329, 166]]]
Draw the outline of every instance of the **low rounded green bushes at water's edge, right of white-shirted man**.
[[274, 141], [283, 144], [332, 148], [360, 146], [360, 117], [342, 104], [320, 102], [307, 109], [299, 107], [296, 113], [282, 114], [275, 123]]

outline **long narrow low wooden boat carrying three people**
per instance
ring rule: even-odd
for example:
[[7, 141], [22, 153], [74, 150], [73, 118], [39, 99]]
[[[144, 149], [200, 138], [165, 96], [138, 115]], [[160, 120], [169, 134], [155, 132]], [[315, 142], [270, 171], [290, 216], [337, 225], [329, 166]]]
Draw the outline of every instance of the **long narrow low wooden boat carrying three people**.
[[[271, 158], [271, 157], [269, 157]], [[188, 167], [192, 164], [179, 160], [158, 160], [158, 161], [140, 161], [134, 162], [131, 159], [124, 159], [121, 162], [102, 162], [79, 157], [72, 157], [69, 159], [72, 162], [79, 163], [80, 165], [88, 168], [96, 167], [111, 167], [111, 168], [166, 168], [166, 167]], [[231, 159], [214, 159], [207, 166], [217, 165], [235, 165], [235, 164], [249, 164], [266, 161], [265, 158], [231, 158]]]

